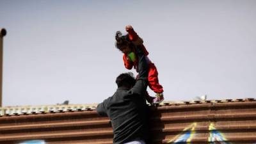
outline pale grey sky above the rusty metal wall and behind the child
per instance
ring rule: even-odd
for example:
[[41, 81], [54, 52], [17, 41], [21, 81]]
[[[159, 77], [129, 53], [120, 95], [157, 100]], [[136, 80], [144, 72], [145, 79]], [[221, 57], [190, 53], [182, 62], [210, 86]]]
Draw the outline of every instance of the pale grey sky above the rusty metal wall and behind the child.
[[114, 45], [127, 24], [143, 38], [166, 100], [256, 98], [255, 17], [253, 0], [0, 0], [3, 106], [113, 95], [116, 76], [129, 71]]

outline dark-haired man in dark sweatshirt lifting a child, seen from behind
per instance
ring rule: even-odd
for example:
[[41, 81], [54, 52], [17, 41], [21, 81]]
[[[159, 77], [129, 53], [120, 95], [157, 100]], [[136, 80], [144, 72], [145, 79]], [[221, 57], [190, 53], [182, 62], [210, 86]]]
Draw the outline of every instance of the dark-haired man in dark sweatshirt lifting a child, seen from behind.
[[113, 127], [114, 144], [145, 144], [148, 137], [147, 104], [148, 64], [140, 49], [138, 79], [129, 73], [116, 77], [118, 89], [112, 97], [97, 106], [99, 115], [108, 116]]

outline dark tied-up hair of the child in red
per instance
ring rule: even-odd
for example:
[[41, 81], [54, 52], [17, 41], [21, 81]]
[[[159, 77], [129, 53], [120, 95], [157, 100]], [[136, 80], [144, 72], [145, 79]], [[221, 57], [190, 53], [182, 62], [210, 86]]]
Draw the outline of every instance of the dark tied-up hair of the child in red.
[[129, 40], [129, 35], [122, 35], [121, 31], [116, 31], [116, 42], [115, 46], [117, 49], [122, 51], [124, 49], [124, 46], [129, 46], [131, 49], [134, 47], [134, 44], [132, 44], [131, 40]]

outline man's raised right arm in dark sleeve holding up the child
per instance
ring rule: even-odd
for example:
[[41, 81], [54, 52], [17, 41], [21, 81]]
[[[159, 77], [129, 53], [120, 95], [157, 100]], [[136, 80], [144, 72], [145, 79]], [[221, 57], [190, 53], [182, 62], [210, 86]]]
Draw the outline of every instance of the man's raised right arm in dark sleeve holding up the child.
[[145, 95], [148, 86], [148, 63], [145, 59], [145, 54], [136, 47], [136, 53], [138, 56], [138, 68], [139, 76], [136, 84], [131, 88], [132, 92], [138, 93], [139, 95]]

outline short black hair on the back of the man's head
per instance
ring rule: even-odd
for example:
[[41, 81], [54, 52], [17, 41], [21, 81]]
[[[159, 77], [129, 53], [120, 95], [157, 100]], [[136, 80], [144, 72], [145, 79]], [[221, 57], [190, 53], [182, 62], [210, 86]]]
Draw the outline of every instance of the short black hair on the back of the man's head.
[[136, 79], [134, 78], [132, 72], [123, 73], [116, 77], [116, 84], [118, 88], [131, 88], [134, 86], [135, 83]]

